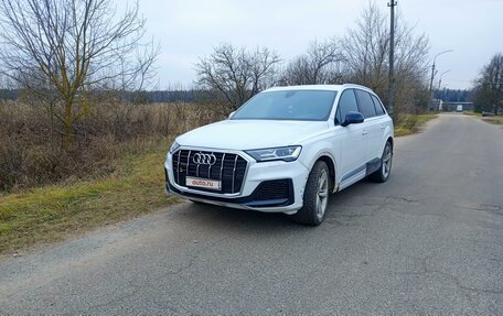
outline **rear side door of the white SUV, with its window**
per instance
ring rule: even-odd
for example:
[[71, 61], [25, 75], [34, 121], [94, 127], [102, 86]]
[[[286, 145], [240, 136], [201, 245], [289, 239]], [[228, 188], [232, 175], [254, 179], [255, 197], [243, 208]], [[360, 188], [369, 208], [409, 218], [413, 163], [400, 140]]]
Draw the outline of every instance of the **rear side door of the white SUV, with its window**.
[[364, 134], [366, 137], [365, 163], [367, 173], [372, 173], [378, 168], [381, 162], [381, 146], [383, 142], [381, 135], [381, 120], [375, 111], [371, 94], [361, 89], [355, 89], [355, 95], [358, 101], [360, 111], [365, 118], [363, 123]]

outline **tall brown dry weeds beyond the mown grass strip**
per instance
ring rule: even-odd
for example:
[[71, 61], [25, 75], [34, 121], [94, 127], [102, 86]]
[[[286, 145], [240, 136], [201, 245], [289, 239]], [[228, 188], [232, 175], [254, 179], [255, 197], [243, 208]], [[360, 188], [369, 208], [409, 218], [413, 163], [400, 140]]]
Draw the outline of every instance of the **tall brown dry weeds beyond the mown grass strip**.
[[216, 120], [194, 103], [103, 103], [75, 124], [71, 152], [60, 126], [43, 109], [0, 103], [0, 192], [100, 177], [111, 161], [143, 150], [146, 140], [174, 135]]

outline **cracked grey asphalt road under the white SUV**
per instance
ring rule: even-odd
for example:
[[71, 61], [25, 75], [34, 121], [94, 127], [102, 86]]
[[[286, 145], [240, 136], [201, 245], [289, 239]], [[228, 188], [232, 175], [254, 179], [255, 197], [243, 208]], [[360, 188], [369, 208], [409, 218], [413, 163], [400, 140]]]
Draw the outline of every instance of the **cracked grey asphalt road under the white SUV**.
[[503, 314], [503, 129], [397, 140], [319, 228], [185, 203], [0, 263], [0, 314]]

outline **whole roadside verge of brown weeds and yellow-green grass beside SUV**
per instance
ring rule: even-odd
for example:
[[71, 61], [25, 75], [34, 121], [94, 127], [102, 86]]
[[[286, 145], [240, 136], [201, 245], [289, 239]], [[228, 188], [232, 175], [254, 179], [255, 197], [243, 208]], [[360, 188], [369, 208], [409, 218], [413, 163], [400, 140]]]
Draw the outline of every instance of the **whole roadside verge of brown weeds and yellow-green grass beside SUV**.
[[173, 135], [216, 119], [192, 103], [104, 105], [65, 153], [40, 109], [0, 105], [0, 253], [175, 203], [163, 173]]

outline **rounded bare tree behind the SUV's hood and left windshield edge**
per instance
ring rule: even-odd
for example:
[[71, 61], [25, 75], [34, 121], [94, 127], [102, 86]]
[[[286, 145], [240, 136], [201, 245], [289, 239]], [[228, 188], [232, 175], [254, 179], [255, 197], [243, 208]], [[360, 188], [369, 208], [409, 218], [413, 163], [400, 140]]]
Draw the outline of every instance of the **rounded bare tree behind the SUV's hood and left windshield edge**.
[[195, 65], [196, 87], [227, 116], [260, 90], [274, 85], [280, 57], [268, 48], [246, 51], [231, 44], [214, 48]]

